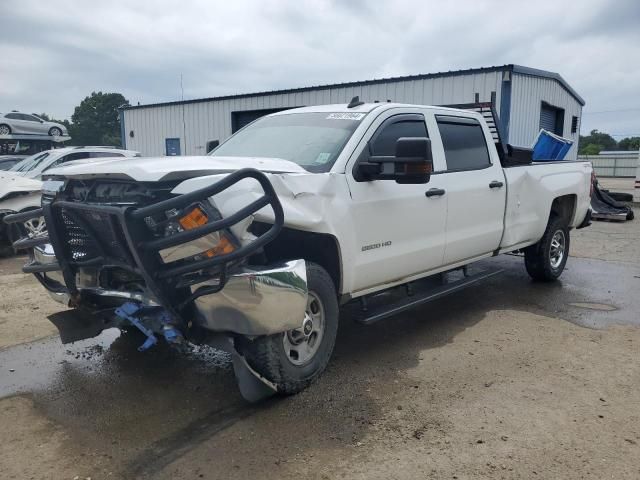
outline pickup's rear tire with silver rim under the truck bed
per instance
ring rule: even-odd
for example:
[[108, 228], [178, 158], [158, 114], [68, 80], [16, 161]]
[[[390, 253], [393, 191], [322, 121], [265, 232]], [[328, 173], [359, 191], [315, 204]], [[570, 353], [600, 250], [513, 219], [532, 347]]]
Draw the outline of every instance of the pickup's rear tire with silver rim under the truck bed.
[[569, 228], [562, 218], [552, 214], [540, 241], [524, 251], [527, 273], [534, 280], [557, 280], [567, 264], [568, 256]]

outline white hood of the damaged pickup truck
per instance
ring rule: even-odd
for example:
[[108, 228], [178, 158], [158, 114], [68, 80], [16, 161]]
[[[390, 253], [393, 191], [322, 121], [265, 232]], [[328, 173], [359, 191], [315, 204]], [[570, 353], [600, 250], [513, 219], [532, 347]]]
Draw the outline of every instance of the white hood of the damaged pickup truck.
[[122, 178], [138, 182], [182, 180], [203, 175], [229, 173], [241, 168], [269, 173], [306, 173], [298, 164], [280, 158], [261, 157], [149, 157], [105, 158], [70, 163], [47, 171], [47, 177]]

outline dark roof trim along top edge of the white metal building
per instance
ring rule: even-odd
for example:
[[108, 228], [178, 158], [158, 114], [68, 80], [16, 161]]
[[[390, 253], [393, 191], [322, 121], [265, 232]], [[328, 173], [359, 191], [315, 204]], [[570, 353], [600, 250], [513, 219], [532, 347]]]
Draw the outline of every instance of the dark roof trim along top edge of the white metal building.
[[401, 77], [388, 77], [388, 78], [377, 78], [373, 80], [360, 80], [356, 82], [344, 82], [344, 83], [333, 83], [326, 85], [314, 85], [310, 87], [299, 87], [299, 88], [286, 88], [281, 90], [267, 90], [262, 92], [255, 93], [241, 93], [235, 95], [223, 95], [218, 97], [206, 97], [206, 98], [196, 98], [192, 100], [177, 100], [172, 102], [160, 102], [160, 103], [148, 103], [146, 105], [130, 105], [126, 107], [121, 107], [122, 110], [135, 110], [139, 108], [153, 108], [153, 107], [165, 107], [171, 105], [184, 105], [190, 103], [202, 103], [202, 102], [211, 102], [215, 100], [231, 100], [238, 98], [249, 98], [249, 97], [258, 97], [263, 95], [281, 95], [286, 93], [297, 93], [297, 92], [308, 92], [311, 90], [320, 90], [320, 89], [328, 89], [328, 88], [347, 88], [347, 87], [361, 87], [364, 85], [376, 85], [381, 83], [394, 83], [394, 82], [406, 82], [410, 80], [427, 80], [431, 78], [441, 78], [441, 77], [455, 77], [459, 75], [470, 75], [474, 73], [490, 73], [490, 72], [504, 72], [509, 71], [520, 75], [530, 75], [533, 77], [542, 77], [542, 78], [550, 78], [552, 80], [560, 83], [562, 88], [564, 88], [573, 98], [575, 98], [580, 105], [584, 105], [584, 99], [578, 95], [578, 93], [567, 83], [567, 81], [560, 76], [560, 74], [555, 72], [549, 72], [547, 70], [540, 70], [537, 68], [529, 68], [524, 67], [522, 65], [508, 64], [508, 65], [497, 65], [492, 67], [481, 67], [481, 68], [468, 68], [465, 70], [449, 70], [447, 72], [436, 72], [436, 73], [423, 73], [419, 75], [405, 75]]

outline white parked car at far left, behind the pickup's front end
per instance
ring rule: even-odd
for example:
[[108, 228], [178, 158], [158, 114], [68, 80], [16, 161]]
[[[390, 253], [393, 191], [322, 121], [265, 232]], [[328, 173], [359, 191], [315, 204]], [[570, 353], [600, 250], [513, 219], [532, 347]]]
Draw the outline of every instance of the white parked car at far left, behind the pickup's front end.
[[45, 231], [44, 221], [40, 218], [11, 227], [5, 225], [2, 219], [11, 213], [40, 207], [40, 177], [47, 170], [71, 162], [100, 162], [140, 156], [139, 152], [133, 150], [111, 147], [56, 148], [31, 155], [10, 170], [0, 172], [0, 255], [13, 253], [11, 243], [20, 234], [35, 236]]

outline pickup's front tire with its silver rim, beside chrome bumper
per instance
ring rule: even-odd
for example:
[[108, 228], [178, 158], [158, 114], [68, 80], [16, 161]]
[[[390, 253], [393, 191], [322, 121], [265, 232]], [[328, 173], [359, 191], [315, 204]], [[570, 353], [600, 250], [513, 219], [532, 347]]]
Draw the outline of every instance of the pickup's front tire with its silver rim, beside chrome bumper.
[[329, 363], [338, 332], [338, 300], [331, 277], [320, 265], [307, 262], [307, 285], [303, 327], [238, 342], [251, 367], [283, 395], [304, 390], [320, 376]]

